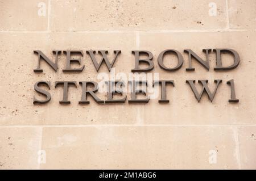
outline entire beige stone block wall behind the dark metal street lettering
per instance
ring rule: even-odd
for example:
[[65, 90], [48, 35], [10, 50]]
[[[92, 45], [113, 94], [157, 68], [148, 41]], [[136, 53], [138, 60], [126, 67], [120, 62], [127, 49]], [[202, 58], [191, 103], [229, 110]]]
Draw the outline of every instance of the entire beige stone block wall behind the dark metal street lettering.
[[[39, 16], [38, 3], [46, 5]], [[215, 4], [212, 4], [215, 3]], [[0, 169], [256, 169], [255, 158], [255, 2], [254, 1], [0, 1]], [[216, 5], [216, 16], [210, 9]], [[26, 12], [26, 13], [25, 13]], [[232, 48], [240, 65], [214, 71], [195, 60], [194, 72], [185, 71], [192, 49], [203, 59], [203, 48]], [[52, 50], [83, 50], [81, 73], [63, 73], [65, 55], [55, 73], [41, 62], [43, 73], [34, 73], [42, 50], [53, 60]], [[55, 81], [97, 81], [108, 73], [106, 65], [94, 69], [86, 50], [122, 50], [115, 73], [134, 68], [131, 50], [150, 50], [170, 103], [79, 105], [81, 87], [70, 87], [71, 104], [60, 105], [61, 87]], [[164, 49], [181, 52], [184, 64], [175, 72], [159, 68]], [[97, 58], [100, 58], [97, 56]], [[224, 54], [224, 65], [232, 57]], [[164, 64], [174, 66], [173, 56]], [[74, 68], [77, 65], [72, 65]], [[200, 103], [186, 79], [222, 79], [211, 103]], [[226, 81], [234, 79], [239, 103], [228, 103]], [[52, 100], [34, 105], [36, 81], [51, 81]], [[200, 86], [197, 86], [199, 88]], [[160, 94], [160, 92], [159, 92]], [[98, 94], [106, 99], [106, 94]], [[127, 94], [130, 99], [130, 94]], [[46, 151], [46, 163], [38, 151]], [[216, 151], [210, 163], [209, 151]]]

